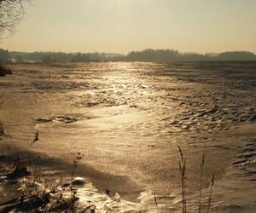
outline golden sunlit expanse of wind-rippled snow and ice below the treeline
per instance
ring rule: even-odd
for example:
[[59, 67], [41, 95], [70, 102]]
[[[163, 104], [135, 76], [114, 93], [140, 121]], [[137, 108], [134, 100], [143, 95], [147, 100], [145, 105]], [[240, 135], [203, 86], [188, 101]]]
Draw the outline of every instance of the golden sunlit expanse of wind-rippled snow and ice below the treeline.
[[83, 153], [78, 172], [100, 190], [136, 201], [150, 189], [168, 212], [180, 206], [179, 145], [189, 208], [205, 153], [205, 197], [216, 174], [213, 210], [256, 210], [256, 63], [10, 67], [0, 120], [20, 151], [67, 163]]

